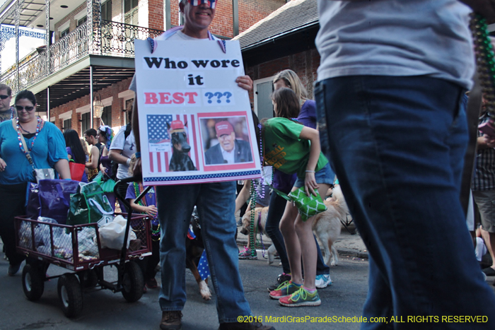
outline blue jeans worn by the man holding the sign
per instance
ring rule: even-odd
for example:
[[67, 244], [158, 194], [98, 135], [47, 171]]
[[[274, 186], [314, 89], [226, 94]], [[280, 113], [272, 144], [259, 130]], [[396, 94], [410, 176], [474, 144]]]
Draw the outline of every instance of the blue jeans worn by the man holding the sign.
[[237, 322], [251, 310], [239, 276], [235, 244], [235, 182], [156, 187], [161, 225], [161, 310], [182, 310], [185, 293], [185, 240], [194, 205], [216, 293], [219, 322]]

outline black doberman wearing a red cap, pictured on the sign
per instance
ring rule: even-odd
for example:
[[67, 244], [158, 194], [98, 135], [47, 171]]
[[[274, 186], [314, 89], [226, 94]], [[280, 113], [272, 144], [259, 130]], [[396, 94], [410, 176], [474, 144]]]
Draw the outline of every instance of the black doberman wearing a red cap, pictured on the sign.
[[191, 146], [187, 143], [187, 134], [184, 125], [180, 120], [174, 120], [171, 124], [167, 123], [170, 133], [170, 141], [173, 146], [172, 158], [168, 170], [170, 172], [195, 171], [196, 167], [187, 153], [191, 151]]

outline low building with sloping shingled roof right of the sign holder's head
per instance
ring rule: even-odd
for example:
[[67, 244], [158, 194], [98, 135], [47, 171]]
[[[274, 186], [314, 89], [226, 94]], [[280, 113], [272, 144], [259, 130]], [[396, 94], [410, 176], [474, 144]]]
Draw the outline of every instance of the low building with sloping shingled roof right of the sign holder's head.
[[250, 101], [260, 119], [273, 116], [269, 95], [279, 71], [295, 71], [313, 98], [320, 66], [314, 42], [318, 28], [317, 1], [292, 0], [233, 38], [239, 40], [245, 71], [254, 82]]

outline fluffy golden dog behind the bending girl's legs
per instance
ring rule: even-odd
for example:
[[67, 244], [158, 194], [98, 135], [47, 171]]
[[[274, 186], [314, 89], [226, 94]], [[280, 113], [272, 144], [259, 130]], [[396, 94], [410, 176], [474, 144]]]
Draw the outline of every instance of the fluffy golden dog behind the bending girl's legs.
[[[339, 185], [334, 187], [332, 198], [327, 199], [324, 203], [327, 206], [327, 211], [316, 215], [313, 221], [313, 232], [325, 251], [325, 264], [328, 265], [330, 263], [331, 266], [337, 266], [339, 263], [339, 254], [337, 253], [337, 248], [334, 247], [334, 242], [340, 236], [340, 230], [342, 229], [341, 220], [345, 221], [347, 213], [349, 213]], [[243, 235], [249, 235], [251, 212], [248, 211], [243, 216], [243, 228], [240, 230]], [[254, 212], [255, 231], [258, 232], [261, 227], [262, 232], [266, 235], [267, 233], [264, 231], [264, 228], [267, 223], [268, 207], [255, 208]], [[273, 263], [275, 251], [273, 245], [268, 249], [268, 264]]]

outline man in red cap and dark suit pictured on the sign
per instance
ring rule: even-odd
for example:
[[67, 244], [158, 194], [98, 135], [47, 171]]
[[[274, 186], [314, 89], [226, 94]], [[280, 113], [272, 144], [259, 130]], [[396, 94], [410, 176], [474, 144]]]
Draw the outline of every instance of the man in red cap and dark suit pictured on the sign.
[[206, 165], [252, 162], [251, 146], [247, 141], [235, 139], [232, 124], [226, 120], [215, 124], [219, 144], [204, 153]]

